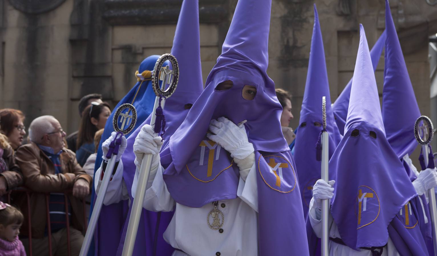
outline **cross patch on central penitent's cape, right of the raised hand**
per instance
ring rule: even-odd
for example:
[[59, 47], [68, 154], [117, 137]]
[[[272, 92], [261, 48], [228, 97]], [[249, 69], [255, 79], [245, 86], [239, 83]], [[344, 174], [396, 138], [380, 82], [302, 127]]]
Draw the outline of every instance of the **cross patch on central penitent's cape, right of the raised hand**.
[[257, 164], [262, 179], [271, 189], [290, 193], [296, 188], [295, 169], [285, 157], [260, 155]]

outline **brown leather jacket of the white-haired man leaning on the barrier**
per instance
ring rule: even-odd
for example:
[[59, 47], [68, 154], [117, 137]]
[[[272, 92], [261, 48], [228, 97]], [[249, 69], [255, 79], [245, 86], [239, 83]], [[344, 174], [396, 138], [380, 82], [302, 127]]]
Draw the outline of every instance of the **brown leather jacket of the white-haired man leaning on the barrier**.
[[[37, 144], [31, 142], [18, 148], [15, 154], [18, 165], [24, 176], [24, 186], [35, 191], [30, 194], [31, 209], [31, 226], [32, 237], [44, 237], [45, 225], [47, 222], [46, 193], [50, 192], [69, 192], [73, 188], [77, 179], [83, 178], [92, 184], [92, 178], [76, 161], [76, 155], [73, 151], [66, 148], [62, 149], [59, 157], [61, 162], [61, 174], [55, 174], [55, 166], [52, 161], [44, 154]], [[91, 186], [90, 186], [91, 187]], [[80, 199], [73, 197], [71, 193], [67, 194], [72, 207], [71, 223], [74, 228], [84, 231], [85, 215], [83, 205]], [[28, 207], [25, 194], [16, 198], [21, 212], [24, 214], [24, 223], [21, 227], [21, 233], [28, 236]]]

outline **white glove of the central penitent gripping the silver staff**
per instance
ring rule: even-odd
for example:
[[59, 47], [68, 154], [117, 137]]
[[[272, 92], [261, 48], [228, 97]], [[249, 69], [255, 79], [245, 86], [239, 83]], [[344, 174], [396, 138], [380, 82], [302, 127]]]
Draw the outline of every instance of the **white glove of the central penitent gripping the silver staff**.
[[162, 138], [157, 136], [151, 125], [145, 124], [142, 126], [134, 142], [136, 167], [139, 169], [141, 166], [144, 154], [152, 154], [152, 170], [156, 168], [160, 163], [160, 150], [162, 145]]

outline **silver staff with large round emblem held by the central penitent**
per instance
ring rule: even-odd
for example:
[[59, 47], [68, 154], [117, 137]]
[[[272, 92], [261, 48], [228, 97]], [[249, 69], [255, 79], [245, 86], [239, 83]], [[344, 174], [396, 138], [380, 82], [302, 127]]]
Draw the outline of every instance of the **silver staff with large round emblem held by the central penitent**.
[[[167, 65], [165, 68], [163, 64], [165, 61], [170, 61], [173, 65], [173, 69]], [[177, 82], [179, 80], [179, 66], [177, 64], [176, 58], [171, 54], [164, 54], [156, 61], [155, 68], [153, 68], [152, 74], [152, 85], [153, 91], [156, 94], [155, 106], [153, 106], [153, 112], [161, 107], [164, 108], [165, 99], [170, 97], [176, 90]], [[159, 81], [163, 81], [161, 88]], [[166, 84], [168, 88], [166, 90]], [[150, 120], [150, 125], [154, 127], [155, 132], [157, 132], [157, 127], [160, 127], [160, 122], [156, 123], [156, 115], [152, 115]], [[158, 126], [157, 126], [158, 125]], [[160, 129], [158, 129], [160, 130]], [[159, 133], [159, 131], [157, 132]], [[135, 198], [132, 203], [132, 211], [129, 216], [129, 224], [126, 232], [125, 244], [123, 246], [122, 256], [131, 256], [135, 246], [136, 234], [138, 232], [139, 219], [142, 212], [142, 203], [144, 201], [144, 196], [146, 194], [146, 186], [149, 181], [150, 169], [152, 167], [153, 155], [147, 154], [142, 158], [141, 167], [139, 170], [138, 185], [135, 193]]]

